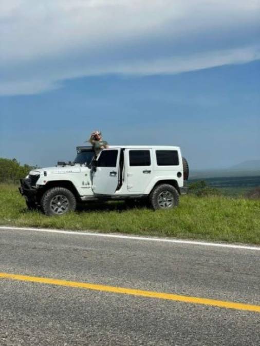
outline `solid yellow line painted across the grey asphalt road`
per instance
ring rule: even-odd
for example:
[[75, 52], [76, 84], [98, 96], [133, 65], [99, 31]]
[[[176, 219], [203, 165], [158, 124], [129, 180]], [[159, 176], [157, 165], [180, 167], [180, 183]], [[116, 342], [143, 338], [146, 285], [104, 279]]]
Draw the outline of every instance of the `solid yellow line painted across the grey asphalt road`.
[[140, 296], [140, 297], [150, 297], [150, 298], [158, 298], [158, 299], [165, 299], [165, 300], [182, 301], [185, 303], [203, 304], [203, 305], [208, 305], [208, 306], [213, 306], [218, 308], [247, 310], [247, 311], [254, 311], [254, 312], [260, 313], [259, 305], [235, 303], [232, 301], [222, 301], [222, 300], [215, 300], [215, 299], [190, 297], [190, 296], [183, 296], [183, 295], [172, 294], [172, 293], [142, 291], [142, 290], [136, 290], [136, 289], [123, 288], [123, 287], [105, 286], [105, 285], [95, 284], [95, 283], [51, 279], [51, 278], [39, 277], [39, 276], [0, 273], [0, 278], [47, 283], [47, 284], [54, 284], [58, 286], [76, 287], [76, 288], [81, 288], [86, 290], [96, 290], [96, 291], [104, 291], [104, 292], [111, 292], [111, 293], [128, 294], [128, 295], [134, 295], [134, 296]]

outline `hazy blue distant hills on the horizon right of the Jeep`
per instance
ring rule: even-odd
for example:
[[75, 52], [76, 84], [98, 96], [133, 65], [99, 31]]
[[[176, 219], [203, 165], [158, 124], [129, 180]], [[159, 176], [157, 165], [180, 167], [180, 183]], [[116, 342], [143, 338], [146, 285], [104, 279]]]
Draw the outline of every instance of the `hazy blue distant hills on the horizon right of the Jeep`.
[[226, 169], [190, 170], [191, 179], [260, 176], [260, 160], [248, 160]]

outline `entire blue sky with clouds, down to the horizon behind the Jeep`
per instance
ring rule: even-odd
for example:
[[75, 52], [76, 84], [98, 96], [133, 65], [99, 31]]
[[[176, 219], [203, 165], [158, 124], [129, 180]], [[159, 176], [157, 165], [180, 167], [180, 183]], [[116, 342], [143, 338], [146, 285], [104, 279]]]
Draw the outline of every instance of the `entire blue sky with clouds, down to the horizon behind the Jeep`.
[[259, 8], [4, 0], [0, 156], [53, 165], [100, 129], [113, 145], [178, 145], [193, 169], [260, 159]]

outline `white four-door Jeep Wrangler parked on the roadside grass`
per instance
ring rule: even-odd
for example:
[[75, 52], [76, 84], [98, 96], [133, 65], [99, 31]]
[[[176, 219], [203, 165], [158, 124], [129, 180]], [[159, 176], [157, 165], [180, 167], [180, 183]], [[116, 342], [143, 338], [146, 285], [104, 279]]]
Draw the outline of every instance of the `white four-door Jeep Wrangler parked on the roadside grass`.
[[77, 152], [73, 162], [35, 169], [21, 179], [29, 209], [61, 215], [82, 202], [139, 198], [153, 209], [170, 209], [187, 193], [189, 167], [179, 147], [111, 146], [97, 157], [92, 147]]

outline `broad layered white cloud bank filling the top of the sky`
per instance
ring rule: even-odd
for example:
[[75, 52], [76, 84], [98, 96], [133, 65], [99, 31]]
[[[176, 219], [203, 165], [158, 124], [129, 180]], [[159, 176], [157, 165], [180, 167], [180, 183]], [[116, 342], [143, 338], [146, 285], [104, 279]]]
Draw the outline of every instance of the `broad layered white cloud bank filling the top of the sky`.
[[[0, 93], [39, 93], [86, 75], [180, 73], [259, 59], [259, 9], [255, 0], [4, 0]], [[238, 42], [247, 31], [248, 42]]]

